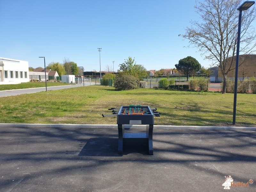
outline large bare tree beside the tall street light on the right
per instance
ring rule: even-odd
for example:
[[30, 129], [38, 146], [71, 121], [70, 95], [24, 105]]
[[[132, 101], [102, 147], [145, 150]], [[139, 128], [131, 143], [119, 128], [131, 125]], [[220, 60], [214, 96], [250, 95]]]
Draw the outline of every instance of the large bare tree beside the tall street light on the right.
[[[191, 21], [192, 27], [186, 28], [185, 35], [189, 45], [197, 47], [205, 59], [212, 60], [223, 76], [222, 93], [226, 92], [227, 74], [235, 69], [238, 29], [237, 8], [241, 0], [204, 0], [196, 1], [196, 12], [202, 22]], [[241, 25], [241, 56], [255, 52], [255, 32], [251, 26], [255, 19], [255, 8], [243, 11]], [[242, 63], [239, 63], [241, 65]]]

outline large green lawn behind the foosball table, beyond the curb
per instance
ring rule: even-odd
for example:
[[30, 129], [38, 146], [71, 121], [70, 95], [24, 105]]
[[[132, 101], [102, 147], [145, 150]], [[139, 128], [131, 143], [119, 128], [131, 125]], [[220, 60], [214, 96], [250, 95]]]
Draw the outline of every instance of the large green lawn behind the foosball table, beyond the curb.
[[[85, 86], [2, 97], [0, 123], [116, 124], [108, 108], [157, 108], [157, 125], [231, 126], [234, 94]], [[236, 126], [256, 126], [256, 95], [237, 94]]]

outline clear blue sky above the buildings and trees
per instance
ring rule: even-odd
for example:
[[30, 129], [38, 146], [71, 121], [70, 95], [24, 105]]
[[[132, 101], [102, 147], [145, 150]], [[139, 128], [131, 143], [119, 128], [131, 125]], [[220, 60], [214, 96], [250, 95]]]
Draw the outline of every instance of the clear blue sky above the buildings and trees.
[[116, 71], [128, 57], [147, 70], [174, 68], [192, 56], [208, 68], [196, 48], [179, 37], [200, 20], [194, 0], [0, 0], [0, 57], [44, 67], [69, 58], [84, 71]]

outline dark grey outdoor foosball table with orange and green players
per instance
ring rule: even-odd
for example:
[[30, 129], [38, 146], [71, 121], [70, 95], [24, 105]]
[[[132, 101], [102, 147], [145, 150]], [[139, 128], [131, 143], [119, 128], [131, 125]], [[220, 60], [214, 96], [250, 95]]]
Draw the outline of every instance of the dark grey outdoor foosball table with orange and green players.
[[[154, 116], [160, 116], [156, 108], [149, 106], [130, 105], [120, 108], [110, 108], [112, 115], [103, 115], [103, 117], [117, 116], [118, 127], [118, 154], [123, 154], [123, 141], [126, 139], [146, 139], [148, 142], [148, 153], [153, 155], [153, 126]], [[146, 124], [145, 133], [127, 133], [125, 124]]]

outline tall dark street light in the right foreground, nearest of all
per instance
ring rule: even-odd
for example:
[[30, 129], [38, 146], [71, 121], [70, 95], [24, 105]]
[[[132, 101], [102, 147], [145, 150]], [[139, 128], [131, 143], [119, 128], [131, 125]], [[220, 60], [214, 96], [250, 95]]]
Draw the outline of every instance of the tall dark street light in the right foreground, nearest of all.
[[237, 96], [237, 78], [238, 78], [238, 63], [239, 63], [242, 11], [249, 9], [254, 3], [255, 3], [254, 1], [245, 1], [242, 5], [240, 5], [237, 8], [237, 10], [239, 11], [239, 18], [238, 18], [238, 32], [237, 32], [237, 45], [236, 45], [236, 71], [235, 71], [233, 125], [236, 124], [236, 96]]

